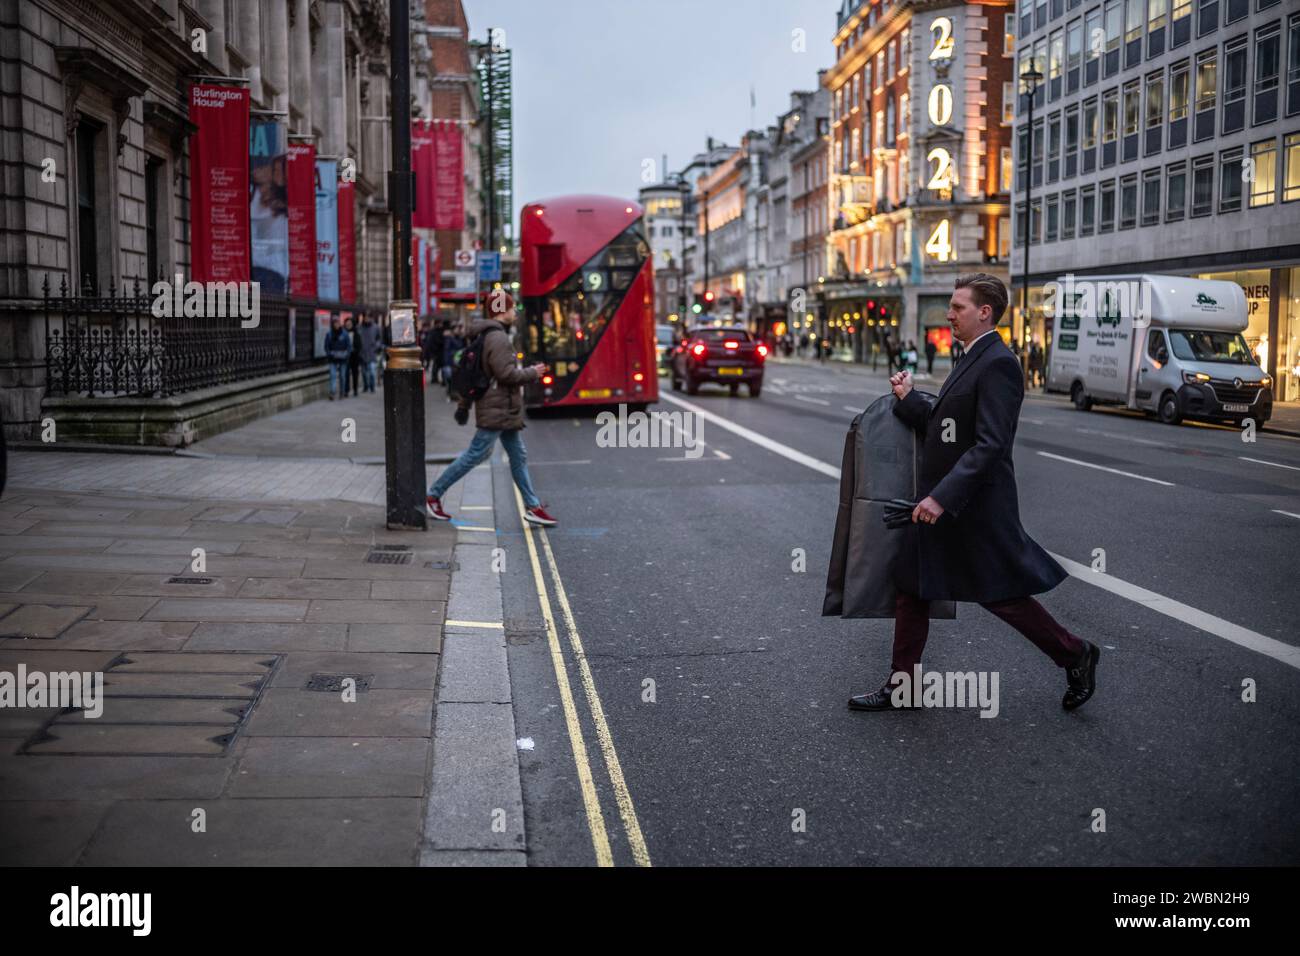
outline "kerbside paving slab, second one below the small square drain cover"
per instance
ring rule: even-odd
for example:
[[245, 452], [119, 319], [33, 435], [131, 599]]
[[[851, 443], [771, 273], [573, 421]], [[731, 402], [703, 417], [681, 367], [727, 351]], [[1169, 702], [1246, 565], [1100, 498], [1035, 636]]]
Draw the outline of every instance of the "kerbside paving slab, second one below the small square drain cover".
[[226, 796], [419, 797], [428, 761], [429, 737], [251, 737]]

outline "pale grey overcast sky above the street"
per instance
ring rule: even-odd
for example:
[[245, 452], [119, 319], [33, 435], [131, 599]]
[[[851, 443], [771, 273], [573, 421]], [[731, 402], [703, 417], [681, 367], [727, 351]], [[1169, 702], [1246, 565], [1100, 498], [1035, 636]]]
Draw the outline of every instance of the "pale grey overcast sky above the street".
[[[515, 64], [515, 220], [566, 193], [634, 198], [646, 157], [680, 168], [705, 138], [736, 144], [811, 90], [833, 57], [838, 0], [464, 0]], [[792, 49], [806, 31], [807, 51]], [[750, 111], [750, 86], [757, 107]], [[662, 170], [659, 170], [662, 172]]]

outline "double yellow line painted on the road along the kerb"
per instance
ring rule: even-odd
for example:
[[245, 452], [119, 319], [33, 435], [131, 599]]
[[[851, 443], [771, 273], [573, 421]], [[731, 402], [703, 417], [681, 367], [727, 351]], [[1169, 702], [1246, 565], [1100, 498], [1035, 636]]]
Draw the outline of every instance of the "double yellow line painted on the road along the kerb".
[[564, 724], [568, 728], [569, 744], [573, 748], [573, 763], [577, 766], [578, 786], [582, 790], [582, 804], [586, 809], [586, 823], [592, 831], [592, 845], [595, 849], [597, 866], [614, 866], [614, 853], [610, 849], [610, 834], [604, 825], [604, 813], [601, 810], [601, 800], [595, 793], [595, 782], [592, 775], [592, 761], [586, 750], [586, 739], [582, 734], [582, 724], [578, 721], [577, 706], [573, 702], [573, 688], [568, 678], [568, 667], [564, 662], [564, 652], [560, 646], [559, 628], [555, 626], [555, 615], [551, 613], [551, 600], [546, 592], [546, 579], [542, 576], [542, 564], [537, 557], [537, 545], [533, 544], [533, 535], [542, 542], [542, 553], [546, 555], [546, 566], [550, 568], [551, 580], [555, 583], [555, 598], [564, 617], [564, 630], [568, 632], [569, 648], [577, 663], [578, 679], [586, 696], [588, 709], [592, 711], [592, 722], [595, 724], [595, 739], [604, 757], [604, 769], [610, 775], [614, 787], [614, 800], [619, 806], [619, 816], [623, 818], [623, 830], [632, 848], [632, 858], [637, 866], [650, 866], [650, 852], [646, 849], [645, 838], [641, 835], [641, 825], [637, 822], [637, 810], [632, 805], [632, 793], [628, 783], [623, 778], [623, 766], [619, 763], [619, 753], [614, 748], [614, 736], [610, 734], [610, 724], [604, 719], [604, 708], [601, 705], [601, 695], [595, 691], [595, 679], [586, 662], [586, 650], [582, 649], [582, 639], [578, 636], [577, 624], [573, 622], [573, 609], [569, 607], [568, 594], [564, 592], [564, 581], [560, 580], [559, 568], [555, 566], [555, 554], [551, 551], [551, 542], [546, 532], [534, 528], [524, 520], [524, 499], [515, 492], [515, 506], [519, 509], [519, 520], [524, 525], [524, 542], [528, 545], [528, 559], [533, 566], [533, 583], [537, 585], [537, 601], [542, 607], [542, 619], [546, 622], [546, 643], [551, 652], [551, 666], [555, 669], [555, 683], [560, 689], [560, 702], [564, 709]]

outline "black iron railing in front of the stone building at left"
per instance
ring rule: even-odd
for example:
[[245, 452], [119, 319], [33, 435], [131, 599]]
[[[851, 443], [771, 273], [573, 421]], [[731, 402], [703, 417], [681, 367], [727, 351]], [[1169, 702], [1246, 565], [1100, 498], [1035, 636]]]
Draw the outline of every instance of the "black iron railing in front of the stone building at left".
[[261, 295], [259, 323], [246, 329], [238, 317], [159, 317], [139, 278], [110, 282], [108, 295], [77, 295], [66, 277], [56, 294], [47, 274], [42, 295], [47, 394], [91, 398], [159, 398], [311, 365], [316, 310], [341, 310]]

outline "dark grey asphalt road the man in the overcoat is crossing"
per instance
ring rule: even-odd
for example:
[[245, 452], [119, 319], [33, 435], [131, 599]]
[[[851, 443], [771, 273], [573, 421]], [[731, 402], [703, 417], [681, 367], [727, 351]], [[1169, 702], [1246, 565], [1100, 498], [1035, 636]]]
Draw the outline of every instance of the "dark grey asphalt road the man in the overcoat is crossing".
[[698, 458], [599, 447], [589, 415], [532, 421], [534, 484], [562, 522], [546, 536], [560, 587], [533, 535], [554, 640], [494, 459], [530, 864], [606, 861], [593, 831], [616, 865], [1300, 862], [1300, 440], [1031, 395], [1028, 532], [1083, 566], [1104, 549], [1108, 583], [1179, 604], [1086, 576], [1041, 597], [1102, 645], [1097, 696], [1070, 714], [1063, 674], [961, 605], [924, 663], [996, 671], [997, 717], [863, 714], [845, 700], [887, 676], [892, 622], [820, 617], [824, 471], [884, 392], [859, 369], [772, 365], [759, 399], [662, 401], [760, 437], [706, 420]]

